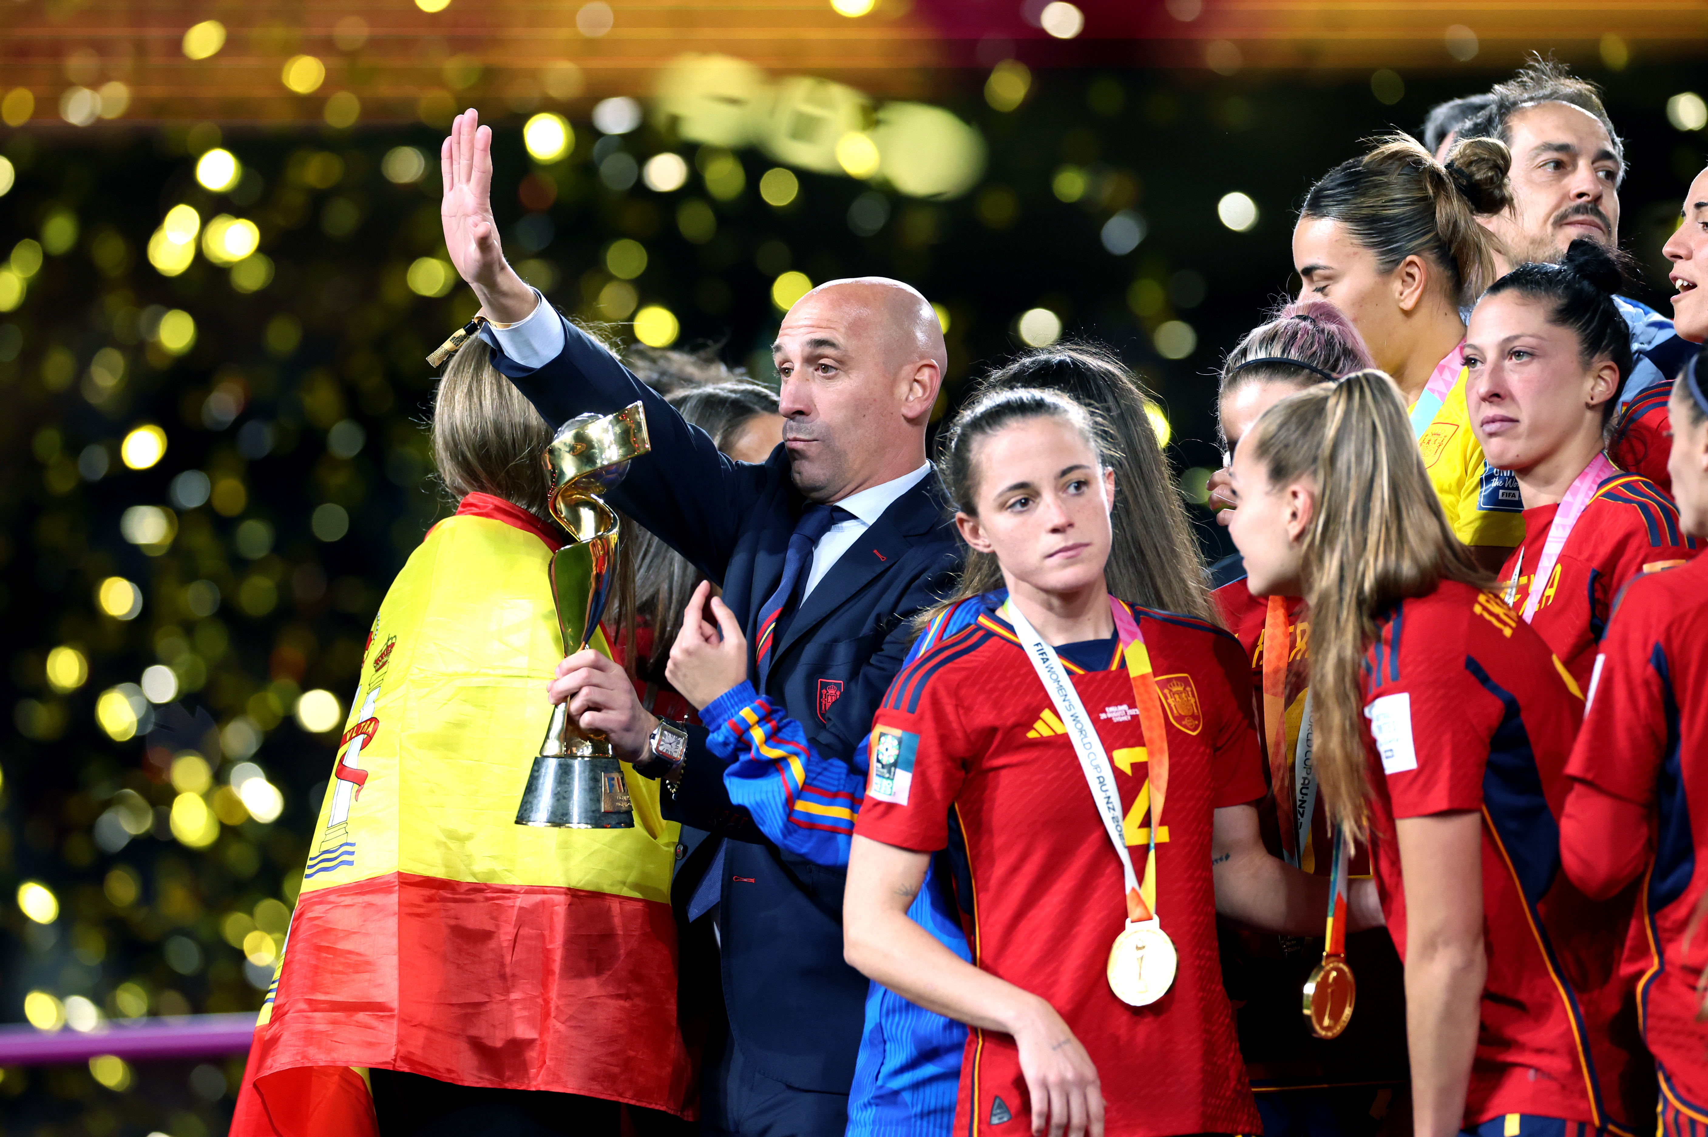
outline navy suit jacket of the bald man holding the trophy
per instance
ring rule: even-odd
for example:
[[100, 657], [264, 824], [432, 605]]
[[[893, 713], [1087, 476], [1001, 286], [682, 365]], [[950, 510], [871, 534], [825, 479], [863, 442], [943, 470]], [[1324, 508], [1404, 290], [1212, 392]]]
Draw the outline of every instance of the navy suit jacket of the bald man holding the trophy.
[[[531, 370], [494, 364], [548, 423], [588, 411], [646, 406], [652, 452], [635, 459], [611, 505], [651, 529], [722, 587], [753, 664], [758, 609], [782, 582], [789, 536], [806, 505], [784, 447], [738, 463], [564, 321], [557, 359]], [[772, 649], [763, 695], [806, 727], [823, 755], [852, 760], [914, 640], [910, 618], [955, 586], [960, 550], [934, 475], [897, 499], [813, 587]], [[666, 816], [726, 840], [719, 883], [721, 971], [729, 1029], [753, 1067], [798, 1089], [847, 1093], [854, 1082], [866, 978], [842, 959], [842, 869], [770, 843], [724, 790], [724, 763], [688, 736], [688, 758]], [[676, 874], [678, 910], [712, 860], [714, 840]]]

